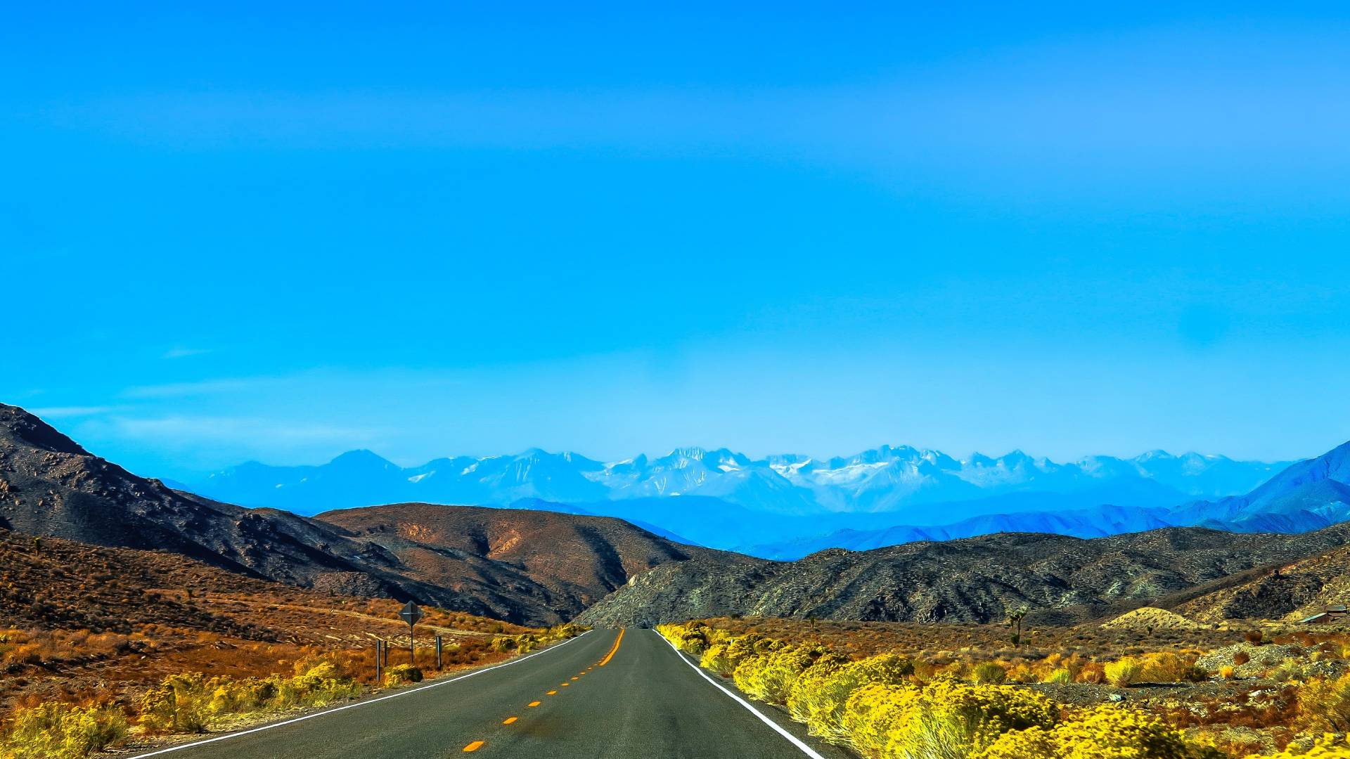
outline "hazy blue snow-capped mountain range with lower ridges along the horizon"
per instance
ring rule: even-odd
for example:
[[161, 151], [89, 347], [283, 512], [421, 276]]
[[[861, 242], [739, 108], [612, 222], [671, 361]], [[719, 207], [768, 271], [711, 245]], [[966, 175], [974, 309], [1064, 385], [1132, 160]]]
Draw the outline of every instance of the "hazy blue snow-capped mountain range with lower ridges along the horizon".
[[1164, 451], [1072, 463], [1021, 451], [957, 459], [882, 446], [829, 459], [676, 448], [610, 463], [532, 448], [400, 467], [350, 451], [320, 466], [248, 462], [171, 486], [301, 515], [420, 501], [616, 516], [678, 542], [795, 559], [1000, 531], [1094, 538], [1211, 516], [1218, 527], [1222, 515], [1181, 519], [1169, 509], [1247, 493], [1285, 466]]

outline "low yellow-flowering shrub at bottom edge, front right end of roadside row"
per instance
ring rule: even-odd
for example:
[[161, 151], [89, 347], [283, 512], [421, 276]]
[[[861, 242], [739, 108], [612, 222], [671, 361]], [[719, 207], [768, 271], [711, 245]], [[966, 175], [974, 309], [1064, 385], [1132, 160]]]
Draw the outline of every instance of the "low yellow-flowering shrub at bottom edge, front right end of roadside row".
[[1129, 709], [1098, 706], [1052, 729], [1006, 732], [977, 759], [1223, 759], [1216, 748], [1191, 743], [1162, 720]]

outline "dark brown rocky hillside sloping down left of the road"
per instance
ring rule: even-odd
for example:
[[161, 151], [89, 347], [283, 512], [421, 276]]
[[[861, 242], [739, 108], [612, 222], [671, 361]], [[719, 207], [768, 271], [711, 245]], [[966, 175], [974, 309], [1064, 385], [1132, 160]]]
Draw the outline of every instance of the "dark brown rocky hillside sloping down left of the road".
[[[686, 547], [613, 519], [425, 509], [321, 521], [211, 501], [136, 477], [0, 404], [0, 528], [30, 536], [167, 551], [301, 587], [416, 598], [528, 624], [567, 620], [628, 573], [688, 556]], [[400, 525], [405, 517], [414, 521]], [[522, 524], [531, 520], [540, 524], [535, 532]], [[456, 542], [460, 529], [486, 543]], [[509, 535], [528, 535], [520, 539], [528, 544], [506, 547]]]

